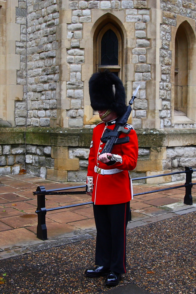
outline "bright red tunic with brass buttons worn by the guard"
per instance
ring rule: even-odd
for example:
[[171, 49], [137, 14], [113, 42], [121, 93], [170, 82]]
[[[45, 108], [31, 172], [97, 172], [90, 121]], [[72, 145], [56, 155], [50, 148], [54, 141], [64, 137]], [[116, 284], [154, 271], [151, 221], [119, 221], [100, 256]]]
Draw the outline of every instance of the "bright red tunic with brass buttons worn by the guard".
[[[121, 133], [119, 138], [129, 136], [129, 142], [115, 145], [112, 150], [112, 154], [122, 156], [121, 161], [117, 161], [113, 165], [108, 166], [98, 160], [99, 153], [102, 152], [105, 146], [105, 143], [103, 143], [100, 138], [106, 128], [114, 129], [114, 126], [115, 124], [107, 126], [107, 123], [102, 122], [93, 130], [89, 153], [87, 183], [88, 186], [91, 186], [91, 183], [94, 184], [92, 201], [94, 204], [98, 205], [125, 203], [131, 199], [130, 176], [128, 171], [136, 167], [138, 157], [138, 142], [134, 129], [130, 125], [127, 125], [127, 128], [131, 128], [129, 135]], [[110, 175], [101, 175], [94, 172], [95, 166], [105, 170], [117, 168], [123, 171]]]

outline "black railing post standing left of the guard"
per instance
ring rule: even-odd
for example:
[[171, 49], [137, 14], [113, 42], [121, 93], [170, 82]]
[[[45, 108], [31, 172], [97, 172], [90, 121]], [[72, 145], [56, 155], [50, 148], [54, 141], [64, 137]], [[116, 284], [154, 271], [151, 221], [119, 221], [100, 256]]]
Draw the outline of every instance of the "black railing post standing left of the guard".
[[[37, 187], [36, 192], [45, 193], [44, 186]], [[45, 194], [37, 195], [37, 238], [47, 240]]]

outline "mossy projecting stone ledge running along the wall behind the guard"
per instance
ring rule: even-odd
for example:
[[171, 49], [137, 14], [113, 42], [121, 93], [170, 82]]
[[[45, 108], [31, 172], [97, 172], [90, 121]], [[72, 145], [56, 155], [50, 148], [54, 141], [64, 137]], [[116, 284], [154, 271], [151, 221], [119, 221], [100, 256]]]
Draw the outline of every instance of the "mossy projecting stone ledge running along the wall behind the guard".
[[[25, 128], [0, 128], [0, 144], [24, 144]], [[93, 129], [27, 128], [26, 144], [89, 147]], [[196, 145], [196, 129], [136, 129], [140, 148]]]

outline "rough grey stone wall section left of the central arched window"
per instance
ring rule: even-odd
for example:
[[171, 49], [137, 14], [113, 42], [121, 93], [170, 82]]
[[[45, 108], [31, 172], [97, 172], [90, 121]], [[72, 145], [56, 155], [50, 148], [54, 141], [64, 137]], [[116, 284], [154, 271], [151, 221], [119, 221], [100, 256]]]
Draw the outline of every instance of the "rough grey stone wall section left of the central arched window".
[[17, 84], [23, 85], [24, 96], [15, 103], [15, 124], [50, 126], [50, 118], [57, 116], [57, 1], [19, 0], [19, 8], [27, 9], [27, 18], [16, 16], [16, 23], [21, 25], [21, 41], [16, 42], [16, 54], [21, 59]]

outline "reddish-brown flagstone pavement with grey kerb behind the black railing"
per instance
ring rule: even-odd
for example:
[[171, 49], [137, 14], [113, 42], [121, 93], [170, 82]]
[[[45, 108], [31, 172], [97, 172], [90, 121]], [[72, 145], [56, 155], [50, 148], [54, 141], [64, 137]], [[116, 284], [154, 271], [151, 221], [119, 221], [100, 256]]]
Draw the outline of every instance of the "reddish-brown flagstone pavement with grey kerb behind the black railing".
[[[193, 180], [196, 182], [196, 179]], [[163, 187], [183, 185], [185, 181], [162, 185], [134, 184], [134, 194]], [[72, 207], [46, 214], [48, 240], [36, 237], [37, 186], [46, 190], [83, 183], [58, 183], [28, 174], [0, 177], [0, 259], [31, 253], [95, 236], [92, 205]], [[146, 225], [173, 216], [196, 211], [196, 185], [192, 188], [193, 205], [183, 204], [185, 188], [134, 196], [132, 220], [127, 228]], [[89, 202], [86, 194], [46, 196], [46, 208]]]

